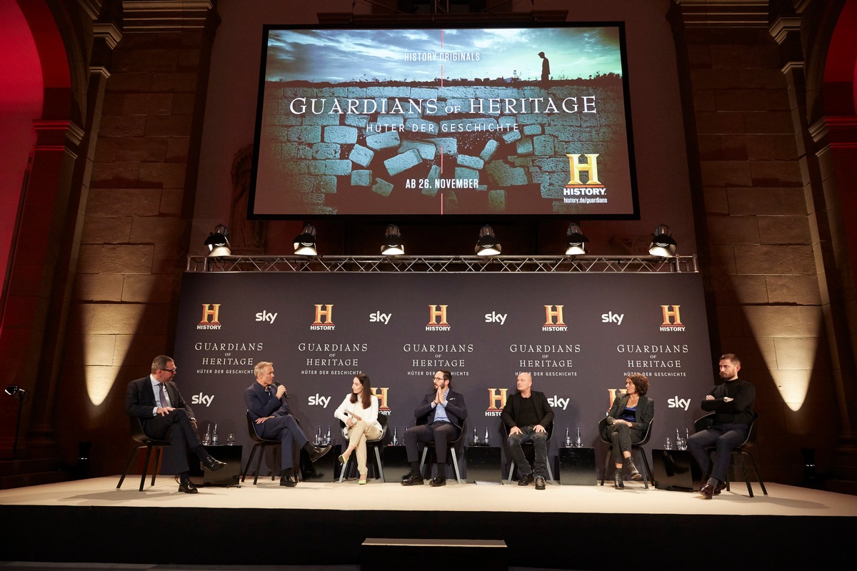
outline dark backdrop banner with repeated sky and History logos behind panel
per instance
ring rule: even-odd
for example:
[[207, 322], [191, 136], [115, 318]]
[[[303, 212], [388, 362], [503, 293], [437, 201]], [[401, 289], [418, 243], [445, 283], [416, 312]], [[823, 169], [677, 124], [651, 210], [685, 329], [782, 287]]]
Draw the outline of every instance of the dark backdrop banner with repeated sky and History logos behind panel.
[[[692, 273], [187, 273], [174, 355], [200, 431], [216, 424], [249, 456], [243, 391], [272, 361], [312, 440], [344, 439], [333, 411], [369, 375], [403, 440], [438, 369], [467, 406], [473, 432], [500, 444], [500, 411], [518, 372], [554, 407], [553, 457], [579, 429], [584, 446], [624, 389], [650, 380], [650, 447], [685, 436], [716, 382], [702, 278]], [[600, 461], [600, 458], [599, 458]]]

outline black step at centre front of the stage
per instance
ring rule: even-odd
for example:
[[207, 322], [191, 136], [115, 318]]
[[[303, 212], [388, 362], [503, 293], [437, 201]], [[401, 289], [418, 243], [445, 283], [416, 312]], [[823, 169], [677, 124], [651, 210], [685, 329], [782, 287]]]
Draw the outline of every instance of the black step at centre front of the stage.
[[502, 539], [366, 538], [360, 547], [361, 571], [436, 571], [450, 568], [449, 562], [458, 568], [508, 571], [506, 561]]

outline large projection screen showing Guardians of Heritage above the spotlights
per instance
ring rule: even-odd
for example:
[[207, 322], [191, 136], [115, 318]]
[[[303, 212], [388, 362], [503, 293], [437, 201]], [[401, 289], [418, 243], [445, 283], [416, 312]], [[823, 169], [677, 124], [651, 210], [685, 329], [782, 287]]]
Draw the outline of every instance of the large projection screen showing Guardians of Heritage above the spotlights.
[[265, 27], [249, 216], [638, 218], [621, 23]]

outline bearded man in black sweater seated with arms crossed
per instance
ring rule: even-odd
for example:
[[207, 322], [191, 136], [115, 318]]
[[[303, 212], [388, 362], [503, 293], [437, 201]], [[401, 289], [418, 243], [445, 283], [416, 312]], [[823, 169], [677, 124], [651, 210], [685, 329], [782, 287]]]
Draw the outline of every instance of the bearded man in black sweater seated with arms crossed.
[[732, 449], [746, 440], [750, 423], [756, 416], [752, 409], [756, 388], [738, 378], [740, 370], [741, 361], [735, 354], [727, 353], [720, 358], [720, 378], [724, 382], [711, 387], [700, 405], [704, 411], [714, 413], [713, 423], [687, 439], [687, 449], [702, 468], [703, 474], [711, 466], [707, 448], [716, 448], [711, 477], [699, 489], [699, 493], [709, 500], [726, 487], [726, 472], [732, 460]]

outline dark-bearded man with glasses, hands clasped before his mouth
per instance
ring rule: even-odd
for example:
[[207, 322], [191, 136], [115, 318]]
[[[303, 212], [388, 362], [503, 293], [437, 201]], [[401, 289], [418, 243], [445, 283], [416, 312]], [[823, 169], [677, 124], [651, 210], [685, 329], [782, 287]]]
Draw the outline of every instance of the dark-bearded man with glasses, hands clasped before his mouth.
[[402, 479], [402, 485], [423, 484], [420, 473], [419, 450], [417, 443], [434, 442], [437, 455], [437, 475], [428, 481], [429, 485], [446, 485], [446, 446], [461, 434], [462, 423], [467, 418], [464, 396], [450, 390], [452, 373], [440, 370], [434, 373], [432, 383], [434, 391], [423, 397], [423, 402], [414, 411], [419, 422], [425, 417], [424, 425], [417, 425], [405, 432], [405, 450], [411, 462], [411, 473]]

